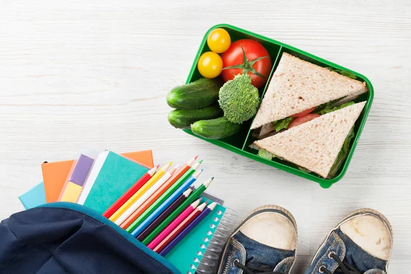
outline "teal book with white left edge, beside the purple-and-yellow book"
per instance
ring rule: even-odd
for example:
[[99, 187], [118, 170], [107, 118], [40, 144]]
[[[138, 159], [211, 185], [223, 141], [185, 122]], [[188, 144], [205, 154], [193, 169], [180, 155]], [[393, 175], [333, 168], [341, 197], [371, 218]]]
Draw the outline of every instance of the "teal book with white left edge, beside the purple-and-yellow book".
[[149, 169], [112, 151], [95, 160], [77, 203], [103, 214]]

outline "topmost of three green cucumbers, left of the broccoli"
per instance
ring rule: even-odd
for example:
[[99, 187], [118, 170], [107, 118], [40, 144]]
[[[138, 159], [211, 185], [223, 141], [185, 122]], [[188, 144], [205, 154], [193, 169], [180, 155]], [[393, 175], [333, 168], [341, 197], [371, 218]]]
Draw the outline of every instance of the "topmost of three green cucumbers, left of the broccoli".
[[193, 110], [204, 108], [219, 100], [219, 79], [200, 78], [195, 82], [173, 88], [167, 95], [171, 108]]

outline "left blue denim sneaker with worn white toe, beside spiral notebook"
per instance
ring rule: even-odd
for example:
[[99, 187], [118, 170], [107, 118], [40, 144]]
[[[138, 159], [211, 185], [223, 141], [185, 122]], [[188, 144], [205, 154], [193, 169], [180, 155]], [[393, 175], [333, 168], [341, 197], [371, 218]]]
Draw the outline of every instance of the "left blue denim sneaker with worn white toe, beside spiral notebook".
[[297, 225], [279, 206], [253, 210], [229, 237], [219, 274], [288, 274], [295, 262]]

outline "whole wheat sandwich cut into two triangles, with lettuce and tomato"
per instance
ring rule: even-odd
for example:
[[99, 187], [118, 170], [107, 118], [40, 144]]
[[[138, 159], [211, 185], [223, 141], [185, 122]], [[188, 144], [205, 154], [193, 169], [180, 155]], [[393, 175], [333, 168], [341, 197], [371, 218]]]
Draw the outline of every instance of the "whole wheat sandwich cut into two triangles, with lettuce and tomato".
[[[366, 84], [283, 53], [251, 125], [251, 148], [302, 171], [335, 177], [349, 153]], [[341, 74], [340, 74], [341, 73]]]

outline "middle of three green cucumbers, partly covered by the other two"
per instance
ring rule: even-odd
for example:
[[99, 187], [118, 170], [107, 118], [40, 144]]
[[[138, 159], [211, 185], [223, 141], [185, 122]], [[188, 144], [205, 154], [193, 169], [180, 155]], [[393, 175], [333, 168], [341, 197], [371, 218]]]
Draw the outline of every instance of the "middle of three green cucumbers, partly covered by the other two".
[[223, 110], [218, 104], [209, 105], [198, 110], [172, 110], [169, 113], [169, 123], [173, 127], [189, 129], [190, 125], [200, 120], [214, 119], [223, 116]]

